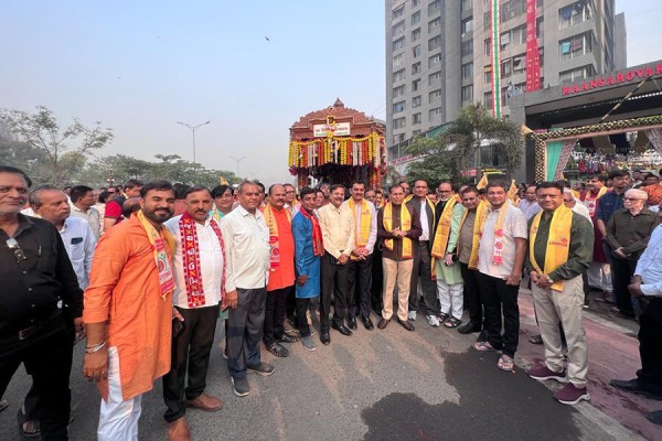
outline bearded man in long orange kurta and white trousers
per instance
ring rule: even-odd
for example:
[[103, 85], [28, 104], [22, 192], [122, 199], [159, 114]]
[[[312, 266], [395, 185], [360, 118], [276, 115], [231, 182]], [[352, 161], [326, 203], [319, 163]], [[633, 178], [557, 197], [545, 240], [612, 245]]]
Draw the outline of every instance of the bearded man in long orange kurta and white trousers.
[[174, 209], [170, 183], [142, 187], [140, 206], [99, 240], [85, 291], [84, 375], [104, 398], [99, 441], [137, 440], [141, 396], [170, 370], [173, 244], [161, 225]]

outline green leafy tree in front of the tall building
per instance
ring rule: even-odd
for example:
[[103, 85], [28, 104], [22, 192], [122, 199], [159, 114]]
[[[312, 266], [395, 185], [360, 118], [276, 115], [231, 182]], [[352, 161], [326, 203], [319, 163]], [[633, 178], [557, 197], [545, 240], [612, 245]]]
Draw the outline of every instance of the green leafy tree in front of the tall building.
[[409, 165], [407, 176], [430, 183], [445, 179], [462, 182], [462, 172], [477, 165], [481, 146], [485, 144], [491, 144], [503, 160], [506, 174], [520, 166], [523, 142], [517, 126], [493, 118], [479, 103], [465, 106], [435, 138], [419, 137], [412, 142], [407, 152], [424, 159]]

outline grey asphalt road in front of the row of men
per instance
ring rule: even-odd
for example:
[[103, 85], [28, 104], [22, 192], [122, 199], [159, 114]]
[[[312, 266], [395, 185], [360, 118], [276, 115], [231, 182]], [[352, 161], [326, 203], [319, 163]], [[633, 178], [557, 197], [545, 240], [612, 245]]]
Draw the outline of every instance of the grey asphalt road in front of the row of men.
[[[373, 316], [373, 319], [375, 319]], [[376, 320], [375, 320], [376, 323]], [[207, 375], [207, 391], [221, 397], [215, 413], [186, 413], [193, 440], [641, 440], [591, 404], [576, 407], [552, 398], [554, 384], [528, 378], [517, 356], [515, 373], [496, 368], [496, 355], [470, 348], [473, 335], [430, 327], [419, 315], [416, 331], [397, 322], [384, 331], [359, 323], [352, 336], [331, 331], [331, 345], [316, 335], [318, 351], [290, 345], [287, 358], [263, 351], [273, 363], [270, 377], [249, 374], [250, 395], [232, 391], [221, 355], [218, 326]], [[521, 345], [524, 343], [524, 335]], [[72, 373], [72, 440], [96, 439], [99, 397], [81, 375], [83, 347], [76, 347]], [[47, 361], [46, 361], [47, 362]], [[20, 439], [15, 413], [29, 389], [21, 368], [0, 413], [0, 439]], [[164, 440], [161, 385], [142, 401], [140, 440]], [[647, 437], [648, 438], [648, 437]]]

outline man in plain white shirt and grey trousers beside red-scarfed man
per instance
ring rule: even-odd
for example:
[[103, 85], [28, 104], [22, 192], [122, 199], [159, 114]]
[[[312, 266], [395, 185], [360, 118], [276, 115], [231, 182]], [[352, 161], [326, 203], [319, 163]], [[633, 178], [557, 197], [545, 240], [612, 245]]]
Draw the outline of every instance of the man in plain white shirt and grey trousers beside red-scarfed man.
[[227, 319], [227, 369], [234, 392], [250, 392], [246, 373], [267, 376], [274, 366], [260, 361], [259, 346], [265, 321], [269, 275], [269, 229], [257, 207], [259, 186], [244, 181], [237, 189], [238, 206], [221, 219], [225, 238], [225, 292]]

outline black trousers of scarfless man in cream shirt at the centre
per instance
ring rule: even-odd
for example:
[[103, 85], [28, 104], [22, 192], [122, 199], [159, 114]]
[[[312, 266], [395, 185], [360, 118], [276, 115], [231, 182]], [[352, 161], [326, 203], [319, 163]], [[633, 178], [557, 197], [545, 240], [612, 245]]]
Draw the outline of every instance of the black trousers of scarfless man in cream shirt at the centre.
[[330, 329], [331, 295], [334, 294], [333, 322], [343, 324], [348, 311], [348, 272], [349, 263], [339, 265], [338, 259], [329, 254], [322, 256], [320, 332]]

